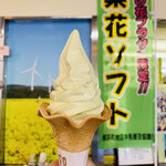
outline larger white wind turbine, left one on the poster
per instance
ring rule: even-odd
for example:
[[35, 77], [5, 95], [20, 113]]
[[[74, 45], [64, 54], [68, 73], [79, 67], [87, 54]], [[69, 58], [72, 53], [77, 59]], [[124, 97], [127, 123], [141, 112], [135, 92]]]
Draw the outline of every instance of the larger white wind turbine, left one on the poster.
[[42, 79], [42, 76], [37, 72], [35, 66], [37, 66], [37, 59], [35, 59], [34, 64], [31, 69], [22, 72], [22, 73], [31, 72], [31, 91], [34, 90], [34, 74], [37, 74], [40, 79]]

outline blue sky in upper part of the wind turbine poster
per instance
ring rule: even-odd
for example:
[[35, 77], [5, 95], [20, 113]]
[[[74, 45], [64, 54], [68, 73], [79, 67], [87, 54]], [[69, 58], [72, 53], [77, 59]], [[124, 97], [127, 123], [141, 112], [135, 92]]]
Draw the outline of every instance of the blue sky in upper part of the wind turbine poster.
[[85, 52], [91, 58], [91, 20], [11, 20], [8, 28], [10, 56], [8, 58], [8, 84], [30, 85], [31, 73], [22, 74], [33, 66], [38, 58], [37, 71], [42, 80], [34, 76], [34, 85], [45, 85], [49, 74], [52, 79], [59, 75], [61, 52], [70, 37], [77, 29]]

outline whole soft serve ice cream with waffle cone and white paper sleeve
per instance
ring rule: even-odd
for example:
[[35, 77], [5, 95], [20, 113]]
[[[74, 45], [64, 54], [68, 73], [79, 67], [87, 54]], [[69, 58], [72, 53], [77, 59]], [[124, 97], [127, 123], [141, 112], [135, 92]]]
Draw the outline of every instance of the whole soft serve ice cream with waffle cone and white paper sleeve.
[[111, 111], [101, 100], [97, 79], [76, 30], [61, 54], [60, 75], [50, 96], [50, 104], [41, 103], [38, 115], [53, 129], [59, 165], [86, 166], [94, 133], [111, 117]]

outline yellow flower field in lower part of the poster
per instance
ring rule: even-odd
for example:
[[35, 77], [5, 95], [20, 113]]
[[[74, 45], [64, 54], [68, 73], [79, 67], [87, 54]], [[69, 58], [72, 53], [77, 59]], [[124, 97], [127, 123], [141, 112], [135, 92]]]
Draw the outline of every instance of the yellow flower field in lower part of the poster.
[[58, 158], [50, 124], [37, 115], [41, 102], [49, 98], [8, 98], [6, 103], [6, 164], [27, 164], [30, 155], [48, 154], [46, 162]]

